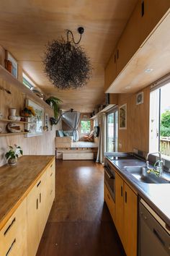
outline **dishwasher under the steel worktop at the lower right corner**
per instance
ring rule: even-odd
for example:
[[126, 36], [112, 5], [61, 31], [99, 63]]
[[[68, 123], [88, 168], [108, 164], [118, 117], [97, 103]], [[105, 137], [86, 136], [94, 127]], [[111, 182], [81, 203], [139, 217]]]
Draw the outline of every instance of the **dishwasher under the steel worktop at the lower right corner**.
[[139, 203], [139, 256], [169, 256], [170, 231], [166, 223], [143, 200]]

